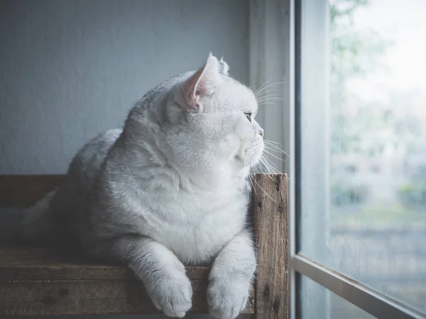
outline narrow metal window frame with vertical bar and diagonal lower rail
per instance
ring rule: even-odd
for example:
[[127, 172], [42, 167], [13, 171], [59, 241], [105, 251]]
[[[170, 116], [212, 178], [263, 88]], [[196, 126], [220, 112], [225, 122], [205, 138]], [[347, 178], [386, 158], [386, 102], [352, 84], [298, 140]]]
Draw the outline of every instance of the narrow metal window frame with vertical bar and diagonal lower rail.
[[[266, 0], [265, 0], [266, 1]], [[307, 276], [317, 282], [324, 288], [329, 289], [333, 293], [344, 298], [353, 304], [375, 316], [383, 319], [420, 319], [426, 318], [417, 310], [406, 306], [403, 303], [388, 297], [368, 286], [351, 279], [343, 274], [336, 272], [323, 264], [319, 264], [300, 254], [300, 216], [301, 216], [301, 188], [300, 184], [295, 181], [300, 180], [301, 167], [301, 147], [302, 128], [300, 125], [300, 94], [301, 94], [301, 17], [302, 17], [302, 1], [304, 0], [283, 0], [288, 4], [290, 9], [290, 48], [292, 54], [286, 55], [290, 59], [290, 134], [288, 135], [287, 145], [290, 145], [290, 157], [288, 166], [288, 174], [290, 176], [290, 318], [301, 318], [300, 286], [302, 276]], [[293, 108], [293, 109], [292, 109]], [[293, 177], [293, 178], [291, 178]]]

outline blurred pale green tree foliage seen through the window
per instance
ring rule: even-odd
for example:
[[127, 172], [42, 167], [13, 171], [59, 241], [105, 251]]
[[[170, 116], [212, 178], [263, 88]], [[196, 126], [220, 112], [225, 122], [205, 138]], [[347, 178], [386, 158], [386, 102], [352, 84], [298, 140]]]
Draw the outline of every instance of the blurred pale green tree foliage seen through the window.
[[[365, 77], [381, 67], [379, 58], [383, 55], [388, 42], [374, 30], [360, 30], [354, 25], [354, 14], [366, 8], [369, 0], [330, 1], [330, 116], [331, 151], [345, 153], [359, 149], [360, 133], [366, 130], [365, 121], [368, 108], [352, 112], [348, 121], [345, 107], [349, 94], [345, 89], [348, 79]], [[358, 97], [352, 96], [356, 103]], [[353, 103], [352, 103], [353, 104]], [[353, 107], [353, 106], [352, 106]]]

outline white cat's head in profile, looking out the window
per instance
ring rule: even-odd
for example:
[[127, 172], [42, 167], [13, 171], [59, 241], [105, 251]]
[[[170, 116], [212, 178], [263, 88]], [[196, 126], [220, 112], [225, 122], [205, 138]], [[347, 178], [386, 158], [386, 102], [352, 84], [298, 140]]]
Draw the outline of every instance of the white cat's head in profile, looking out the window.
[[210, 54], [197, 71], [180, 74], [151, 92], [158, 130], [149, 135], [168, 164], [201, 174], [229, 168], [249, 172], [261, 159], [263, 129], [255, 120], [256, 96], [229, 77], [228, 70], [223, 59]]

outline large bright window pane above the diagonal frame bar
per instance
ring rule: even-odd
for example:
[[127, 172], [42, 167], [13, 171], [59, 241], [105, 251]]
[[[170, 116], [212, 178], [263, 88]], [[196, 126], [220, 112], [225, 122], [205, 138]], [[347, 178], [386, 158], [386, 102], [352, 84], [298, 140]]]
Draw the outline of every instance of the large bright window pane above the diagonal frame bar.
[[426, 313], [426, 1], [305, 0], [300, 252]]

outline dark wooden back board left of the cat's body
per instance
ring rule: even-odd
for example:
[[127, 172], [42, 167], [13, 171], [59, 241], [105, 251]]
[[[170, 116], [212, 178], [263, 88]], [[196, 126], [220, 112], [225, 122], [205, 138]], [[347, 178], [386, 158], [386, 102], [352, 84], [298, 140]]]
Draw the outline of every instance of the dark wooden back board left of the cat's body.
[[65, 175], [0, 175], [0, 207], [28, 207], [52, 191]]

